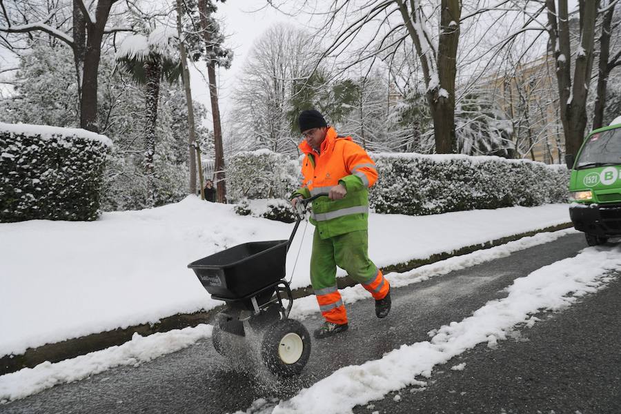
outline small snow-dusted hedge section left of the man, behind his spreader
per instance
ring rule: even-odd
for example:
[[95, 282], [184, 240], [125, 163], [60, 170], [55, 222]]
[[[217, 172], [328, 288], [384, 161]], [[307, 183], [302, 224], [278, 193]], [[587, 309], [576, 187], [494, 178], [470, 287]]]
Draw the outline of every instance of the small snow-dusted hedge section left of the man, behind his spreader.
[[229, 201], [287, 199], [299, 186], [299, 162], [270, 150], [239, 152], [226, 170]]

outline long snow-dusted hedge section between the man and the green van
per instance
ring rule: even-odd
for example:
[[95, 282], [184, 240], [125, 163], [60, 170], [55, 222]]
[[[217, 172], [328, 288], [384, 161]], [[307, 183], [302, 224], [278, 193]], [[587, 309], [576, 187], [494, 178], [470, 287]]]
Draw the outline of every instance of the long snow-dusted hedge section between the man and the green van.
[[567, 200], [569, 171], [528, 160], [466, 155], [371, 155], [379, 178], [369, 204], [377, 213], [538, 206]]

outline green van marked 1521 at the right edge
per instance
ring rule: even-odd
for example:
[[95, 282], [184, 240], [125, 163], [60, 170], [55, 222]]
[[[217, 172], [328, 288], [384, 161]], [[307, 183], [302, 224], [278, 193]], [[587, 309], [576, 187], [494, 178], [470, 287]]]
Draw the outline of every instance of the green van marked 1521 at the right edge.
[[621, 117], [591, 132], [571, 168], [569, 215], [589, 246], [621, 237]]

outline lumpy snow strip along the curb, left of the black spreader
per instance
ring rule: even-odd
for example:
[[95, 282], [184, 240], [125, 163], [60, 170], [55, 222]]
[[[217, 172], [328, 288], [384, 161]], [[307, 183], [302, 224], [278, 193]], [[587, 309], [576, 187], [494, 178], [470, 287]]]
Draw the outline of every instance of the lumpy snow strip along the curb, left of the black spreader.
[[39, 393], [56, 384], [74, 382], [120, 365], [138, 366], [142, 362], [179, 351], [211, 336], [213, 327], [175, 329], [142, 337], [137, 333], [121, 346], [111, 346], [56, 364], [43, 362], [34, 368], [23, 368], [16, 373], [0, 376], [0, 403]]

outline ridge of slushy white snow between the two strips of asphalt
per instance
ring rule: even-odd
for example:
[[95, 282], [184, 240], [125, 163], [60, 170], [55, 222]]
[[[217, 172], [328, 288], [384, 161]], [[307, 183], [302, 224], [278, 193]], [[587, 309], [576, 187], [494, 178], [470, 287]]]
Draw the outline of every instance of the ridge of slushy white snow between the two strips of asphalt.
[[498, 339], [506, 339], [513, 326], [533, 322], [531, 315], [542, 309], [559, 311], [578, 297], [594, 293], [613, 279], [612, 269], [621, 270], [620, 246], [586, 248], [576, 257], [516, 279], [507, 288], [506, 298], [488, 302], [462, 322], [432, 331], [430, 341], [403, 345], [382, 359], [341, 368], [273, 411], [269, 408], [262, 413], [351, 413], [354, 406], [414, 384], [418, 375], [430, 377], [435, 365], [445, 364], [477, 344], [493, 345]]

